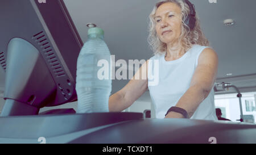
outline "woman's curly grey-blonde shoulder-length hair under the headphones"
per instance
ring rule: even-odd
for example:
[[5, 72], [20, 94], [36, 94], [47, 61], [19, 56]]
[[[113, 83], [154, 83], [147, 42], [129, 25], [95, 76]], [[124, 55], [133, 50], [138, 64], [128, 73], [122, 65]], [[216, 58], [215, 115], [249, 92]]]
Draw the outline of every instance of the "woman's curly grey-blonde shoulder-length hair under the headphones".
[[159, 37], [156, 35], [155, 30], [155, 12], [160, 5], [163, 3], [172, 2], [176, 3], [181, 8], [182, 15], [182, 26], [181, 26], [181, 35], [178, 39], [179, 43], [181, 43], [181, 48], [184, 51], [188, 51], [194, 44], [209, 46], [209, 41], [204, 36], [204, 33], [200, 28], [200, 20], [196, 15], [196, 24], [193, 30], [190, 30], [189, 27], [184, 23], [185, 19], [189, 15], [189, 6], [183, 0], [162, 0], [154, 6], [149, 18], [150, 23], [148, 27], [148, 31], [150, 32], [148, 35], [148, 43], [150, 44], [150, 48], [154, 52], [154, 55], [159, 54], [162, 55], [167, 51], [167, 44], [163, 43]]

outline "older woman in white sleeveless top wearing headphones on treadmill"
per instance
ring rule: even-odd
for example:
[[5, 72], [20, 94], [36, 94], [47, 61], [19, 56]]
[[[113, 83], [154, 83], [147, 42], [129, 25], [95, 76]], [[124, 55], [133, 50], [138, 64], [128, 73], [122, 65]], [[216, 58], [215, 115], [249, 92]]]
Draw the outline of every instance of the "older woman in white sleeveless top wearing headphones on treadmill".
[[[146, 61], [134, 76], [147, 78], [133, 78], [111, 95], [109, 111], [125, 110], [148, 89], [156, 118], [217, 120], [213, 85], [218, 56], [208, 47], [194, 6], [187, 0], [158, 2], [150, 20], [150, 60], [158, 60], [158, 65]], [[149, 85], [151, 66], [158, 66], [157, 85]]]

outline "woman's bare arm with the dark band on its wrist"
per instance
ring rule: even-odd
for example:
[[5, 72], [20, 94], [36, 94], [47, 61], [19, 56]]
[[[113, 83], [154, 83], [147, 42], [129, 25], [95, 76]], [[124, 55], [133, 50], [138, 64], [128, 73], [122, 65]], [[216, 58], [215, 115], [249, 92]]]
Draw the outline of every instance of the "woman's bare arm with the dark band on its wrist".
[[[196, 111], [197, 107], [208, 97], [214, 85], [218, 69], [218, 56], [213, 49], [205, 48], [201, 52], [195, 73], [191, 79], [189, 89], [183, 94], [176, 107], [183, 108], [188, 112], [188, 117]], [[183, 118], [177, 112], [169, 112], [166, 118]]]

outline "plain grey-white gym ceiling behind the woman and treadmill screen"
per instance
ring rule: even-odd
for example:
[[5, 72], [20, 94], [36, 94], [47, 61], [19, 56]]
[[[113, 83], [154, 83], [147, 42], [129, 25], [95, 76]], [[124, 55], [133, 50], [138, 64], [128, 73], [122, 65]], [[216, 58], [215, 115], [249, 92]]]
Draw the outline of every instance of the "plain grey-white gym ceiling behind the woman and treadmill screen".
[[[158, 1], [64, 0], [64, 2], [84, 42], [87, 40], [86, 24], [95, 23], [105, 31], [105, 42], [111, 54], [115, 55], [115, 60], [146, 60], [153, 56], [147, 43], [148, 15]], [[217, 3], [209, 3], [208, 0], [191, 0], [191, 2], [196, 6], [201, 27], [210, 45], [218, 53], [217, 82], [233, 82], [243, 88], [243, 91], [256, 91], [256, 1], [217, 0]], [[225, 27], [223, 20], [227, 18], [234, 19], [236, 25]], [[227, 73], [232, 73], [232, 76], [226, 76]], [[242, 80], [243, 78], [246, 80]], [[114, 80], [113, 92], [121, 89], [127, 82], [128, 80]]]

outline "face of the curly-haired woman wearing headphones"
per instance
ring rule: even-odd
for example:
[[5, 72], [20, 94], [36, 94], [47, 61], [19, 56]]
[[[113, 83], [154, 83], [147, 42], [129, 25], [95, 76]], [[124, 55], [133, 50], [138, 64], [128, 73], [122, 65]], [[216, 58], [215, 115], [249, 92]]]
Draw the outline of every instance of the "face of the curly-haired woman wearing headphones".
[[159, 39], [166, 44], [175, 43], [181, 34], [180, 7], [172, 2], [163, 3], [155, 12], [155, 23]]

